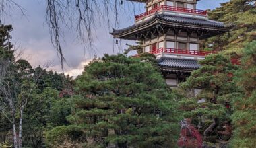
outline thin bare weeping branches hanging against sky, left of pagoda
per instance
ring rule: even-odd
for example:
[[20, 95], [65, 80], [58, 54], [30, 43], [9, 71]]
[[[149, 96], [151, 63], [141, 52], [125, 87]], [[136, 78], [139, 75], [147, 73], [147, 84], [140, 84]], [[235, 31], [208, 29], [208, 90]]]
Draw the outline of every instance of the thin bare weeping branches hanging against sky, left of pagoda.
[[121, 10], [119, 0], [48, 0], [46, 7], [46, 22], [48, 23], [51, 41], [59, 53], [61, 67], [65, 58], [61, 46], [63, 26], [75, 31], [86, 51], [92, 51], [94, 47], [95, 31], [98, 27], [108, 24], [110, 17], [115, 16], [118, 22], [118, 14]]

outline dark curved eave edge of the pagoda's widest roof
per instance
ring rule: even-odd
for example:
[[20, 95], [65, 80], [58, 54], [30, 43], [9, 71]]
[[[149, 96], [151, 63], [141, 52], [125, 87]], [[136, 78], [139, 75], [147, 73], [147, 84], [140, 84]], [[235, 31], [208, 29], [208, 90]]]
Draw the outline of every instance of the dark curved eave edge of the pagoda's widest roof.
[[[110, 34], [114, 36], [114, 38], [123, 38], [127, 40], [139, 40], [139, 38], [135, 37], [135, 34], [139, 34], [141, 32], [145, 32], [150, 28], [154, 28], [156, 24], [163, 24], [172, 28], [184, 28], [191, 30], [202, 30], [207, 32], [216, 32], [213, 36], [217, 34], [222, 34], [224, 32], [228, 32], [232, 29], [231, 27], [220, 27], [220, 26], [206, 26], [203, 24], [189, 24], [189, 22], [171, 22], [170, 20], [166, 20], [164, 18], [152, 17], [150, 20], [145, 22], [141, 22], [140, 24], [136, 24], [130, 26], [128, 28], [124, 28], [123, 30], [113, 30]], [[206, 36], [210, 37], [210, 36]]]

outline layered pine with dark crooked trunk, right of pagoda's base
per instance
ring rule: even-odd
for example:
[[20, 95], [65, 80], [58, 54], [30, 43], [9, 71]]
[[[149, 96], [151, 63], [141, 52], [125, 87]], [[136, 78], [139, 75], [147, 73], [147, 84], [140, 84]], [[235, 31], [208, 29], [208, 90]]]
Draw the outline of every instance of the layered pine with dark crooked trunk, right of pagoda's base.
[[231, 137], [230, 102], [238, 91], [232, 81], [236, 66], [223, 54], [211, 54], [199, 63], [201, 67], [181, 83], [181, 88], [201, 89], [201, 92], [194, 98], [181, 100], [180, 108], [185, 118], [191, 118], [200, 129], [204, 141], [217, 143], [220, 137], [227, 141]]

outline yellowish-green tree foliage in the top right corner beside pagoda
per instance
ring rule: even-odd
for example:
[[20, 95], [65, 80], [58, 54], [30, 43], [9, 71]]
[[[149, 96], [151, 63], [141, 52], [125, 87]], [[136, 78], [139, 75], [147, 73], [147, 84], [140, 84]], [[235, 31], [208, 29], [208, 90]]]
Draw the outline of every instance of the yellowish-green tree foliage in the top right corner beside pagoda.
[[207, 39], [203, 42], [204, 48], [241, 54], [245, 44], [256, 40], [256, 7], [253, 2], [255, 0], [231, 0], [210, 11], [210, 19], [234, 28], [231, 32]]

